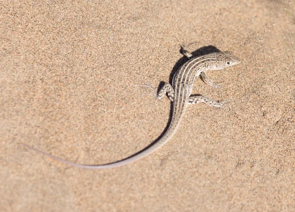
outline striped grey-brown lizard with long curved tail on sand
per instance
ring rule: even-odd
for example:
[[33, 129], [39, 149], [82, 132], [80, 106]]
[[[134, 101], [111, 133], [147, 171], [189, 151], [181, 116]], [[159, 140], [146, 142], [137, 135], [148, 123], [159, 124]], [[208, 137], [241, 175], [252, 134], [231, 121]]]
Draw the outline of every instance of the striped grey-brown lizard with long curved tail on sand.
[[183, 45], [180, 45], [182, 49], [182, 54], [186, 56], [189, 60], [184, 63], [174, 74], [172, 85], [170, 83], [165, 83], [163, 87], [159, 90], [157, 94], [157, 99], [162, 99], [166, 94], [172, 101], [172, 117], [171, 121], [167, 127], [166, 132], [158, 140], [152, 142], [143, 150], [127, 157], [125, 159], [119, 160], [117, 162], [102, 164], [102, 165], [86, 165], [86, 164], [76, 164], [59, 157], [50, 155], [46, 152], [35, 149], [27, 144], [21, 143], [22, 145], [46, 155], [50, 158], [56, 159], [63, 163], [80, 167], [86, 169], [109, 169], [120, 167], [131, 162], [137, 161], [150, 153], [156, 151], [165, 143], [167, 143], [173, 135], [176, 133], [180, 121], [185, 112], [186, 106], [194, 105], [198, 103], [205, 103], [208, 106], [224, 107], [223, 105], [229, 101], [223, 101], [221, 103], [216, 102], [207, 97], [198, 95], [191, 96], [193, 90], [193, 84], [198, 76], [201, 76], [203, 81], [213, 87], [218, 88], [219, 86], [215, 84], [206, 74], [208, 70], [221, 70], [227, 67], [235, 66], [240, 63], [240, 59], [233, 55], [232, 52], [213, 52], [199, 57], [193, 57], [193, 55], [184, 49]]

